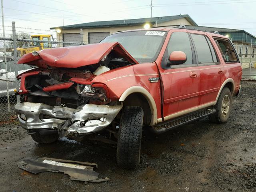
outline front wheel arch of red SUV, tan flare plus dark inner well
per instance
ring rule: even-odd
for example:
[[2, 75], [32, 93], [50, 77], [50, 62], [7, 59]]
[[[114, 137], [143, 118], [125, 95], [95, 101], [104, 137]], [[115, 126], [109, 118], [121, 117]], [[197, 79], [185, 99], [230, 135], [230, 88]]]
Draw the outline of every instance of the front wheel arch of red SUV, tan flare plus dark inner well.
[[[144, 110], [145, 121], [148, 121], [149, 126], [157, 123], [157, 109], [156, 103], [152, 95], [143, 87], [133, 86], [126, 89], [120, 96], [120, 102], [127, 104], [137, 103], [135, 106], [140, 106]], [[138, 102], [141, 101], [141, 102]], [[148, 108], [150, 111], [148, 111]], [[148, 120], [150, 118], [150, 120]]]

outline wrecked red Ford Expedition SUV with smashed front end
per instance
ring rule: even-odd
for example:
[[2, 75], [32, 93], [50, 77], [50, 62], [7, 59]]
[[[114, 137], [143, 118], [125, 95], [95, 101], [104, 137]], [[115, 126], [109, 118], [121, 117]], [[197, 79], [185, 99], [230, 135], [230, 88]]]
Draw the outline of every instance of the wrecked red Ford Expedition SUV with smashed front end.
[[39, 143], [117, 143], [125, 168], [140, 162], [142, 126], [163, 133], [203, 116], [226, 122], [242, 76], [228, 38], [186, 28], [119, 32], [99, 44], [32, 52], [21, 63], [37, 67], [17, 76], [22, 128]]

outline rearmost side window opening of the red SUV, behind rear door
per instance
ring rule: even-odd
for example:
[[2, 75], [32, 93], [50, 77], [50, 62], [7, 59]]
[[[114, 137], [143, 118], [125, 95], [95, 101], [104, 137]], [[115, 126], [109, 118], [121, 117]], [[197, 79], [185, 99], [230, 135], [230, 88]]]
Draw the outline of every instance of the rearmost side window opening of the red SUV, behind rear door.
[[[225, 62], [237, 62], [238, 58], [234, 47], [229, 40], [214, 38]], [[240, 53], [240, 52], [239, 52]]]

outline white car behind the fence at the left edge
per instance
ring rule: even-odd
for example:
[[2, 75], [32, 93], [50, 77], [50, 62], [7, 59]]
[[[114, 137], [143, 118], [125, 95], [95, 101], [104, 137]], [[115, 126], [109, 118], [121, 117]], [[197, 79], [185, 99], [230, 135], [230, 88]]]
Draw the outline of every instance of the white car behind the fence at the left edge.
[[[32, 67], [29, 65], [17, 65], [16, 62], [10, 59], [10, 61], [6, 62], [7, 64], [7, 72], [6, 67], [3, 60], [0, 60], [0, 96], [7, 96], [7, 91], [9, 95], [14, 95], [14, 89], [18, 89], [16, 86], [16, 76], [15, 70], [18, 69], [18, 74], [21, 74], [27, 70], [30, 70]], [[8, 90], [7, 90], [7, 82], [8, 82]]]

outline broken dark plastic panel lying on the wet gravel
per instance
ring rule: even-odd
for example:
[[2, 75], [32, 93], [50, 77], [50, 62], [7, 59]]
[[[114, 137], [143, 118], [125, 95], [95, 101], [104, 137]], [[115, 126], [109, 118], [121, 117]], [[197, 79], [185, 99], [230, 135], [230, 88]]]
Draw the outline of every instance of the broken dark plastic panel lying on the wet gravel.
[[93, 168], [98, 168], [95, 163], [54, 159], [48, 157], [28, 157], [17, 163], [18, 167], [28, 172], [37, 174], [41, 172], [63, 172], [70, 176], [71, 180], [104, 182], [109, 178], [98, 179], [99, 173]]

